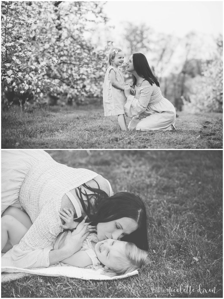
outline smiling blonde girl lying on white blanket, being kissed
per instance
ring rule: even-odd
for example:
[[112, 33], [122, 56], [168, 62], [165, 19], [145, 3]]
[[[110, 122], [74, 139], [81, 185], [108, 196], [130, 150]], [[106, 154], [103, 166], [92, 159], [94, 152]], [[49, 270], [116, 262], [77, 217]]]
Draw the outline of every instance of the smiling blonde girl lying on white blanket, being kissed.
[[[104, 266], [104, 271], [114, 276], [141, 269], [149, 263], [147, 251], [139, 249], [134, 243], [114, 239], [106, 239], [99, 242], [96, 234], [87, 236], [89, 233], [89, 223], [85, 223], [87, 216], [82, 222], [75, 222], [73, 220], [73, 211], [64, 210], [66, 213], [61, 212], [60, 215], [65, 221], [65, 225], [62, 225], [62, 227], [75, 229], [75, 234], [81, 237], [85, 236], [86, 239], [83, 241], [80, 251], [56, 265], [69, 265], [96, 270]], [[17, 219], [11, 216], [12, 214], [17, 215]], [[23, 219], [27, 226], [23, 225], [18, 219]], [[6, 210], [5, 215], [1, 218], [1, 249], [5, 246], [8, 239], [12, 245], [18, 244], [31, 225], [31, 219], [26, 213], [18, 208], [8, 208], [8, 214]], [[64, 231], [58, 235], [54, 249], [63, 248], [67, 234], [68, 232]]]

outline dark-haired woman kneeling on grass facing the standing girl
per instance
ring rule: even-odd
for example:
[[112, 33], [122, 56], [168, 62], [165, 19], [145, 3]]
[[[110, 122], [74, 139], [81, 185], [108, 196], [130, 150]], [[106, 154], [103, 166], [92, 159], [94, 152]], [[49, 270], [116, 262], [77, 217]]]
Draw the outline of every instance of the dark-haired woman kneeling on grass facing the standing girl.
[[133, 75], [135, 96], [130, 88], [124, 90], [127, 102], [125, 114], [133, 117], [128, 125], [130, 130], [175, 130], [176, 111], [172, 103], [160, 91], [159, 82], [153, 75], [146, 57], [141, 53], [130, 56], [127, 71]]

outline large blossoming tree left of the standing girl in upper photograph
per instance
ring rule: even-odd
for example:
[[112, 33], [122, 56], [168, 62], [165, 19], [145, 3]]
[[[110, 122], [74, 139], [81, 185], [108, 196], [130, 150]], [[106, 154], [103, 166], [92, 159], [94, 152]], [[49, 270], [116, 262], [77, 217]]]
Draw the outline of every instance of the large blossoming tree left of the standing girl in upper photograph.
[[[103, 2], [3, 1], [1, 78], [4, 104], [47, 94], [69, 102], [99, 96], [105, 49], [86, 32], [106, 22]], [[9, 99], [9, 100], [8, 100]]]

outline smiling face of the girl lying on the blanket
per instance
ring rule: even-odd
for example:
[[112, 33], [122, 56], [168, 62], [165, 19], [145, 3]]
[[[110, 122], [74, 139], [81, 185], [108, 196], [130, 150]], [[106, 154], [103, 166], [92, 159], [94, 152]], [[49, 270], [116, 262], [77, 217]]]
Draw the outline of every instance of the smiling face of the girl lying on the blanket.
[[98, 260], [110, 269], [119, 266], [118, 257], [125, 255], [126, 243], [123, 241], [107, 239], [95, 245], [95, 252]]

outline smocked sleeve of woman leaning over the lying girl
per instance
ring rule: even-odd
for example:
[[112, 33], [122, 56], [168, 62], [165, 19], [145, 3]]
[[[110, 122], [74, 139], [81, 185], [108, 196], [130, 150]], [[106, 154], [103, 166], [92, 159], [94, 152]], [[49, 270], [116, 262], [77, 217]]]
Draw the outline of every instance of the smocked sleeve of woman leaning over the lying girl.
[[25, 269], [49, 267], [49, 252], [62, 231], [60, 224], [55, 202], [48, 201], [19, 244], [13, 246], [13, 264]]

